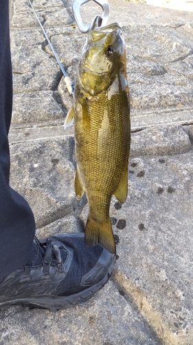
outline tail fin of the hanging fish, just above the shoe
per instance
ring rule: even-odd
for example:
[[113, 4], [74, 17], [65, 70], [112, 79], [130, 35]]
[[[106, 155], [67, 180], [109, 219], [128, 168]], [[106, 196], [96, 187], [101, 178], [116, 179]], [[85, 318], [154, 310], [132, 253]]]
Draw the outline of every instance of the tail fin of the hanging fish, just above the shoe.
[[99, 243], [104, 248], [109, 250], [110, 253], [116, 253], [115, 240], [113, 237], [110, 218], [104, 223], [99, 223], [93, 220], [91, 217], [88, 217], [84, 238], [85, 243], [89, 246]]

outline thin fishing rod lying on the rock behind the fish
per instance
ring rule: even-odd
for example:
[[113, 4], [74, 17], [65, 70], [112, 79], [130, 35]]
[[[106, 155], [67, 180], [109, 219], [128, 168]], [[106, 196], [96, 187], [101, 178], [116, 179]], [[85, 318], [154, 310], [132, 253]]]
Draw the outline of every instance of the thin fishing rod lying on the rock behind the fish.
[[67, 86], [67, 89], [69, 91], [69, 94], [71, 96], [73, 96], [73, 93], [74, 93], [74, 85], [73, 85], [73, 82], [71, 81], [70, 77], [68, 77], [67, 75], [67, 72], [65, 72], [65, 69], [63, 68], [63, 65], [62, 63], [60, 62], [60, 59], [58, 58], [58, 55], [56, 54], [56, 51], [54, 50], [54, 47], [52, 46], [52, 43], [51, 41], [49, 41], [49, 37], [47, 36], [47, 32], [45, 31], [45, 29], [43, 28], [42, 24], [41, 24], [41, 21], [40, 19], [38, 18], [38, 15], [36, 14], [36, 11], [34, 10], [34, 7], [32, 6], [32, 3], [30, 0], [28, 0], [29, 3], [30, 3], [30, 6], [32, 8], [32, 10], [34, 11], [34, 14], [36, 16], [36, 19], [39, 23], [39, 25], [41, 26], [41, 29], [43, 30], [43, 33], [45, 35], [45, 38], [47, 39], [47, 42], [49, 43], [49, 46], [50, 48], [52, 49], [52, 52], [54, 53], [54, 56], [56, 57], [56, 60], [58, 61], [58, 65], [60, 66], [60, 69], [62, 70], [63, 72], [63, 75], [65, 76], [65, 83], [66, 83], [66, 86]]

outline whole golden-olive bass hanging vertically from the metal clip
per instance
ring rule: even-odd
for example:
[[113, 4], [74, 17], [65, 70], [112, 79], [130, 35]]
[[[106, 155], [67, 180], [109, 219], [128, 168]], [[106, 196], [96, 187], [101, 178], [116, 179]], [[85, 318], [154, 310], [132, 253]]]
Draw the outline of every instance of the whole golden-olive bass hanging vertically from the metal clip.
[[128, 193], [130, 102], [126, 51], [118, 23], [87, 34], [78, 63], [73, 107], [65, 128], [74, 122], [75, 192], [87, 195], [89, 214], [84, 240], [115, 255], [109, 209], [111, 198], [123, 204]]

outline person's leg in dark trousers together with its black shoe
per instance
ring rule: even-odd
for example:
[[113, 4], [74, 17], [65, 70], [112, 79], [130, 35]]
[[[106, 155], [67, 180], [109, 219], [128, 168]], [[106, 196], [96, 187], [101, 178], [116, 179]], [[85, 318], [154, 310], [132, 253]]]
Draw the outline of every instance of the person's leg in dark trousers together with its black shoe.
[[[84, 234], [34, 239], [34, 216], [9, 187], [8, 130], [12, 73], [8, 0], [0, 10], [0, 307], [12, 304], [60, 309], [87, 301], [111, 275], [115, 256]], [[33, 240], [34, 239], [34, 240]]]

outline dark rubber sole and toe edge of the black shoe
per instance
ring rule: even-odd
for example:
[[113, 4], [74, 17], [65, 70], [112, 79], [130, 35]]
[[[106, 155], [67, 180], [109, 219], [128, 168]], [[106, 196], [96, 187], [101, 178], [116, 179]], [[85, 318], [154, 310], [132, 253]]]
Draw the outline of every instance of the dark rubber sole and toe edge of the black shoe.
[[[85, 302], [90, 299], [94, 293], [96, 293], [104, 284], [109, 280], [111, 277], [111, 272], [113, 270], [115, 264], [115, 256], [111, 255], [107, 250], [105, 250], [106, 256], [106, 264], [109, 264], [109, 268], [106, 270], [106, 274], [100, 280], [100, 282], [94, 284], [93, 286], [89, 286], [89, 288], [85, 288], [84, 290], [80, 291], [79, 293], [69, 295], [69, 296], [34, 296], [30, 298], [14, 298], [8, 299], [8, 301], [3, 301], [0, 303], [0, 308], [6, 305], [20, 305], [20, 306], [28, 306], [31, 308], [42, 308], [42, 309], [49, 309], [50, 311], [57, 311], [59, 309], [69, 308], [71, 306], [75, 306], [77, 304], [84, 304]], [[104, 258], [104, 251], [103, 251], [103, 258]], [[108, 265], [106, 265], [108, 266]]]

